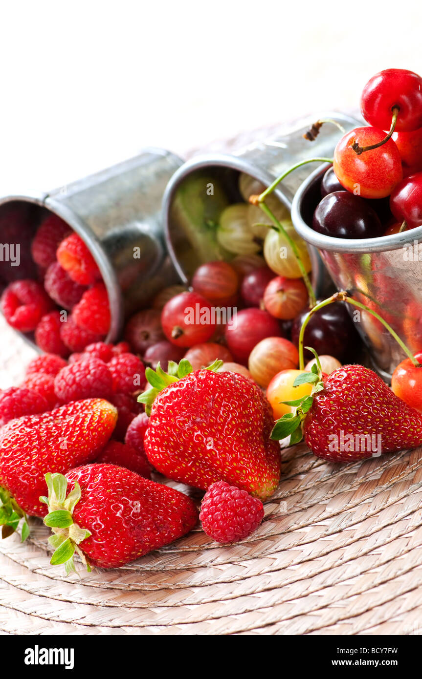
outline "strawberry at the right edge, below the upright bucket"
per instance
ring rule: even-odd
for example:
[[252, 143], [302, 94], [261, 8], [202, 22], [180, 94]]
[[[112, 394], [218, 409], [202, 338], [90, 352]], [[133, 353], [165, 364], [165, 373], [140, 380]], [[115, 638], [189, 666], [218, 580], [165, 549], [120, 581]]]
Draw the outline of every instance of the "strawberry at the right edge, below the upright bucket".
[[[296, 414], [283, 416], [272, 438], [292, 434], [331, 462], [362, 460], [381, 453], [422, 445], [422, 415], [406, 405], [374, 371], [344, 365], [321, 381], [316, 373], [302, 373], [301, 382], [315, 384], [313, 394], [297, 405]], [[292, 442], [292, 441], [291, 441]]]

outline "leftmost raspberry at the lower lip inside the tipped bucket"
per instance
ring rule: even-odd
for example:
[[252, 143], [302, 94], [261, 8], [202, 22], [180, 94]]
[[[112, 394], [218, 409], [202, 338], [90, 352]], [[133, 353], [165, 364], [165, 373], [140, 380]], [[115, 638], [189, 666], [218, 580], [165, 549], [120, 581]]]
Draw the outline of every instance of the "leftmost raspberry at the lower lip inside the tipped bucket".
[[1, 309], [7, 323], [22, 333], [35, 330], [52, 307], [51, 299], [36, 280], [16, 280], [1, 295]]

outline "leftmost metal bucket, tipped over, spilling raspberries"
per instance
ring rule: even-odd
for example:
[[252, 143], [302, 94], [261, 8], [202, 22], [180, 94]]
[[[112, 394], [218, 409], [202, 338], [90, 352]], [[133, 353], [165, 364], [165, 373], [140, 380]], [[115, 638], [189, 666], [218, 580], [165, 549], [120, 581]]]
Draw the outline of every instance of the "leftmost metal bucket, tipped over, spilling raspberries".
[[[0, 223], [2, 211], [11, 205], [28, 206], [29, 234], [21, 237], [21, 259], [23, 255], [29, 261], [31, 237], [48, 213], [64, 219], [86, 242], [109, 295], [107, 342], [118, 338], [126, 316], [146, 306], [161, 287], [179, 280], [166, 253], [161, 201], [182, 162], [169, 151], [145, 149], [135, 158], [49, 193], [0, 199]], [[31, 335], [24, 337], [33, 344]]]

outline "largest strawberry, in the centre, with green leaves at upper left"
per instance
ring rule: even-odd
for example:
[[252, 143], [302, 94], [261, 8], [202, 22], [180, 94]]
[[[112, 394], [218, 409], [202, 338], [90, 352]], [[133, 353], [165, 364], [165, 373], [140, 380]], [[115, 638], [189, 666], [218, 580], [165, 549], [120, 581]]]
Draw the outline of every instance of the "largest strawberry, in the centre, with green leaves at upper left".
[[147, 412], [155, 400], [145, 452], [158, 471], [176, 481], [204, 490], [226, 481], [268, 498], [279, 483], [281, 462], [279, 444], [270, 441], [269, 404], [252, 380], [214, 372], [220, 365], [191, 372], [183, 359], [179, 367], [171, 364], [172, 376], [147, 369], [152, 389], [139, 400], [147, 403]]

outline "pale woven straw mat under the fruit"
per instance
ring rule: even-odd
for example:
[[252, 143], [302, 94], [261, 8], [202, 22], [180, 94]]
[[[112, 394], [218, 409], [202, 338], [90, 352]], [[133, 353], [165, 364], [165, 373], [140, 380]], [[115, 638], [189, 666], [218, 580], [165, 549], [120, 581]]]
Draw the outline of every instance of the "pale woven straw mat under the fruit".
[[[35, 352], [3, 318], [0, 337], [4, 388]], [[0, 542], [1, 634], [421, 634], [422, 448], [354, 464], [285, 450], [262, 525], [228, 547], [197, 527], [67, 577], [48, 534], [33, 519], [26, 543]]]

